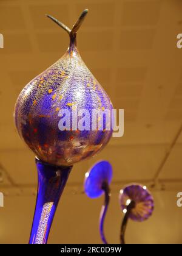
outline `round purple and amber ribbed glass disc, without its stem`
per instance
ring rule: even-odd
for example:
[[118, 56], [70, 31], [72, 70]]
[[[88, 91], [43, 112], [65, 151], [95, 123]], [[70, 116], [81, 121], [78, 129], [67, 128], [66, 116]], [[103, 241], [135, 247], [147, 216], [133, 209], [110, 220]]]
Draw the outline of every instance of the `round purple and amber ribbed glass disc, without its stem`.
[[144, 221], [148, 219], [153, 212], [153, 197], [142, 185], [128, 185], [120, 191], [119, 196], [120, 206], [122, 210], [127, 208], [129, 201], [135, 202], [135, 207], [132, 208], [129, 218], [133, 221]]

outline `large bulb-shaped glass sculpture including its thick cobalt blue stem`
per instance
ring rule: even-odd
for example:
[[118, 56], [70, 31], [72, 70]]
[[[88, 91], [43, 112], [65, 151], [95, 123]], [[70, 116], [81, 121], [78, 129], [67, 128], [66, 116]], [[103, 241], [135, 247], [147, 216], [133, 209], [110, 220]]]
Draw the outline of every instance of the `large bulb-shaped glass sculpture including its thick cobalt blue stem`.
[[[92, 121], [89, 127], [78, 129], [78, 122], [84, 126], [85, 116], [75, 118], [75, 113], [83, 109], [92, 120], [93, 109], [113, 108], [76, 47], [76, 32], [87, 12], [84, 10], [72, 29], [47, 15], [69, 34], [69, 48], [61, 59], [24, 87], [15, 105], [16, 128], [35, 153], [38, 169], [38, 197], [30, 243], [47, 243], [56, 206], [73, 163], [95, 155], [112, 135], [112, 129], [92, 129]], [[106, 119], [103, 123], [106, 127]]]

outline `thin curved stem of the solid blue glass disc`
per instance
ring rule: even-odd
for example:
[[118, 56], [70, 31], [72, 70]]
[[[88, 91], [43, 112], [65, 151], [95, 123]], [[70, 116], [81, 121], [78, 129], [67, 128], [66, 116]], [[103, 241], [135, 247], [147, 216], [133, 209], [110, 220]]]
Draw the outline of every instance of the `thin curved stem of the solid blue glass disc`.
[[109, 200], [110, 200], [110, 190], [109, 190], [109, 184], [108, 182], [103, 182], [102, 189], [104, 190], [104, 205], [101, 208], [101, 213], [100, 213], [100, 218], [99, 218], [99, 231], [101, 235], [101, 240], [103, 241], [104, 244], [107, 244], [106, 237], [104, 235], [104, 220], [106, 217], [107, 213], [107, 208], [109, 205]]

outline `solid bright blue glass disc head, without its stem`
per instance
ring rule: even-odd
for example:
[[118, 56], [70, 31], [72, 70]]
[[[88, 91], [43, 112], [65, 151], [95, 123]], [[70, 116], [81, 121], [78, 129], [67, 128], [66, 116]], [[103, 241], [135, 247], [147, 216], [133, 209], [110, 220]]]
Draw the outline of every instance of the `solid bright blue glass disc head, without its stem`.
[[110, 184], [112, 180], [112, 165], [107, 161], [100, 161], [86, 172], [84, 190], [90, 198], [96, 198], [104, 193], [103, 183]]

